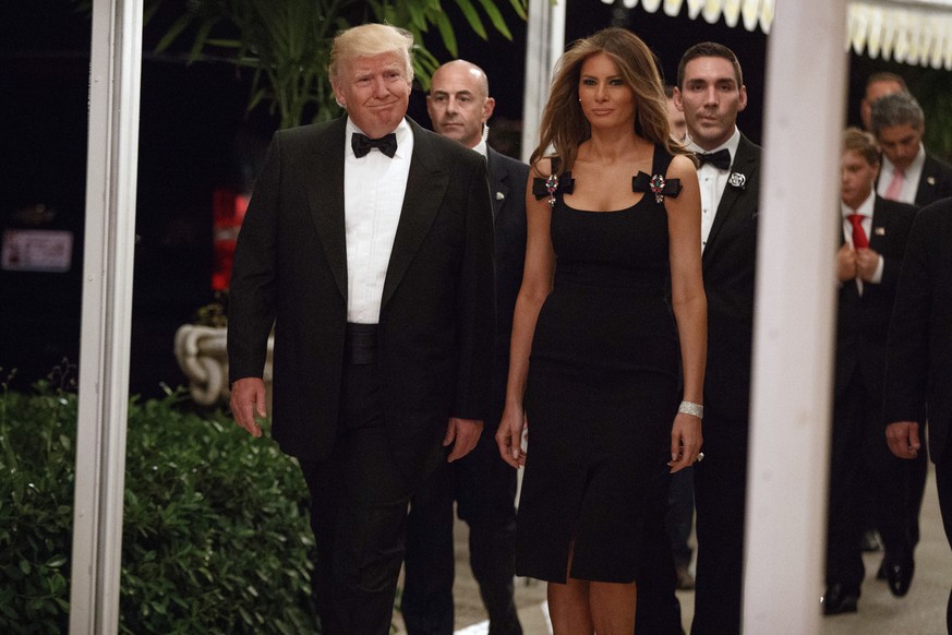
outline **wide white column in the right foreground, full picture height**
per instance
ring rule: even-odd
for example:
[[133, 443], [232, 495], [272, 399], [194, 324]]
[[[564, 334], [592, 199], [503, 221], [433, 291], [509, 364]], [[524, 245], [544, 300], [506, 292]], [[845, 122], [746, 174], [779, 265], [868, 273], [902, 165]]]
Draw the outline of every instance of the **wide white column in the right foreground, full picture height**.
[[845, 0], [778, 2], [768, 41], [744, 632], [820, 631]]

